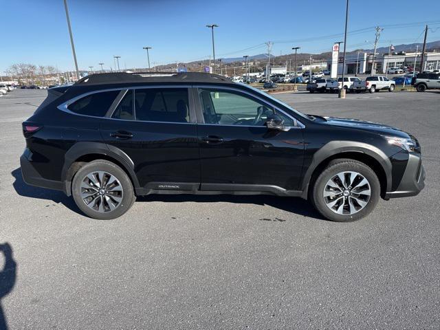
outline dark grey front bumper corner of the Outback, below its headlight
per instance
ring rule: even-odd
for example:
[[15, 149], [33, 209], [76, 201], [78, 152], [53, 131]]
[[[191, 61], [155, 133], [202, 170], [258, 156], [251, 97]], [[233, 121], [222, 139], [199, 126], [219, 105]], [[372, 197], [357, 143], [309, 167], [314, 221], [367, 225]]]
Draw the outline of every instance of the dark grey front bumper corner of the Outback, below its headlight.
[[387, 192], [385, 199], [415, 196], [425, 187], [425, 169], [421, 155], [410, 153], [405, 172], [395, 191]]

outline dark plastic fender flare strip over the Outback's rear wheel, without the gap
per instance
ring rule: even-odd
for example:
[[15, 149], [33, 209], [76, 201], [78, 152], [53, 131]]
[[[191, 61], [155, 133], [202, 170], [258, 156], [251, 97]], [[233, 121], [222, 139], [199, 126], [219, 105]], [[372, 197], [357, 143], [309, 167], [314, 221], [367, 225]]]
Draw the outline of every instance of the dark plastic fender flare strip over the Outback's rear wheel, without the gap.
[[61, 180], [63, 182], [64, 192], [67, 196], [71, 195], [70, 187], [72, 182], [67, 179], [70, 166], [72, 166], [76, 159], [91, 154], [105, 155], [115, 159], [115, 161], [121, 164], [124, 167], [123, 169], [129, 173], [134, 188], [139, 188], [139, 181], [135, 174], [133, 160], [120, 148], [101, 142], [77, 142], [65, 153], [64, 165], [61, 170]]

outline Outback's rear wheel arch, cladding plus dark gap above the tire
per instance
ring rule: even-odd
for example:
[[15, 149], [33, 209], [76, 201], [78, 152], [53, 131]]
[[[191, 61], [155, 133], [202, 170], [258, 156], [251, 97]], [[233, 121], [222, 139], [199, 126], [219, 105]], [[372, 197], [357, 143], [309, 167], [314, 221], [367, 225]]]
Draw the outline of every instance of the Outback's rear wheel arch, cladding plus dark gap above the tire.
[[72, 195], [72, 179], [75, 173], [85, 164], [97, 159], [106, 159], [120, 166], [129, 176], [133, 188], [139, 188], [134, 163], [124, 151], [100, 142], [78, 142], [65, 154], [65, 162], [61, 171], [64, 192], [67, 196]]

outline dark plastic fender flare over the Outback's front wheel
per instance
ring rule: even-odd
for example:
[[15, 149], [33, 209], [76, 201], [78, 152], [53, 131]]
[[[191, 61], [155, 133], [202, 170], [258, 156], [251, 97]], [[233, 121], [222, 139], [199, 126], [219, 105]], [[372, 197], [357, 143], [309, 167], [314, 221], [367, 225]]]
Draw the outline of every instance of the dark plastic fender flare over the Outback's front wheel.
[[382, 166], [386, 175], [386, 191], [391, 190], [392, 184], [392, 165], [391, 161], [385, 153], [377, 148], [377, 146], [373, 146], [371, 144], [367, 144], [364, 142], [353, 142], [353, 141], [331, 141], [322, 146], [316, 153], [314, 153], [311, 164], [309, 168], [307, 168], [305, 175], [303, 177], [303, 184], [301, 188], [303, 190], [303, 195], [301, 197], [307, 199], [307, 194], [309, 190], [309, 183], [311, 179], [311, 175], [314, 173], [316, 168], [321, 164], [325, 159], [333, 156], [333, 155], [344, 155], [344, 153], [364, 153], [373, 157], [377, 162]]

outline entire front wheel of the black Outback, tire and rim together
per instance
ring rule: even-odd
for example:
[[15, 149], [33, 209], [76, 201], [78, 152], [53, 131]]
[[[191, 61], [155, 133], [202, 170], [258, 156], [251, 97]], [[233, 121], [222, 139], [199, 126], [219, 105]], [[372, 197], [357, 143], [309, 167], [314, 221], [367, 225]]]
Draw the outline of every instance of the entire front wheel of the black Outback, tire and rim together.
[[331, 221], [355, 221], [369, 214], [380, 199], [373, 170], [353, 159], [335, 159], [316, 179], [312, 203]]

